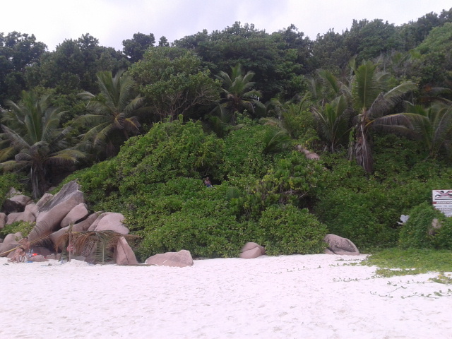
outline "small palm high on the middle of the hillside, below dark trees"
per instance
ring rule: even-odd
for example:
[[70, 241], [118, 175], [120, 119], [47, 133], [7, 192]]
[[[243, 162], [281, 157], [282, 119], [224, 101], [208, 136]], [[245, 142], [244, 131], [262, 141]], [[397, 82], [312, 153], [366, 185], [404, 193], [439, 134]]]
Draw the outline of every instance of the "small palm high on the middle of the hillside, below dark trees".
[[231, 75], [221, 71], [216, 76], [222, 82], [222, 90], [225, 93], [225, 98], [221, 105], [232, 113], [233, 125], [235, 124], [236, 112], [242, 113], [246, 109], [248, 112], [254, 113], [256, 105], [263, 106], [258, 101], [258, 98], [261, 97], [261, 92], [252, 89], [254, 82], [251, 79], [253, 77], [254, 72], [248, 71], [244, 74], [240, 64], [231, 67]]

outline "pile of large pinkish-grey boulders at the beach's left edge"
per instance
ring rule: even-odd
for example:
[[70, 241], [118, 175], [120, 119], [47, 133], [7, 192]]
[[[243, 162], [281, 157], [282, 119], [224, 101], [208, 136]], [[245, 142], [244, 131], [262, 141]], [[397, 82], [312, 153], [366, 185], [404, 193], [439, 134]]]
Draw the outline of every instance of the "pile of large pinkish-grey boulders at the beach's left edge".
[[[33, 243], [42, 235], [47, 235], [52, 246], [32, 246], [33, 250], [43, 257], [55, 258], [56, 254], [52, 253], [52, 249], [70, 226], [76, 232], [111, 230], [129, 234], [123, 220], [124, 215], [120, 213], [90, 213], [80, 186], [73, 181], [64, 185], [55, 195], [44, 194], [37, 203], [16, 189], [11, 189], [4, 201], [3, 212], [0, 213], [0, 229], [16, 221], [35, 222], [35, 227], [28, 234], [28, 241]], [[16, 248], [21, 237], [22, 234], [17, 232], [6, 235], [3, 241], [0, 239], [0, 254]], [[11, 255], [12, 252], [9, 252], [9, 256]], [[138, 263], [124, 237], [119, 239], [117, 248], [114, 249], [114, 261], [120, 265]]]

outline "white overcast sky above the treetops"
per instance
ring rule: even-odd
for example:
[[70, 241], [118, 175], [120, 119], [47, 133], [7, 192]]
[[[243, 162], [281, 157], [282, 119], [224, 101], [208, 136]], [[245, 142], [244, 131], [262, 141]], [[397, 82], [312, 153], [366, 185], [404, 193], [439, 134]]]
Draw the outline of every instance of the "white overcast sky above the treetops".
[[330, 28], [350, 28], [353, 19], [401, 25], [451, 7], [451, 0], [6, 0], [1, 1], [0, 32], [34, 34], [51, 51], [85, 33], [102, 46], [122, 50], [122, 41], [136, 32], [153, 33], [157, 42], [165, 35], [173, 42], [236, 21], [268, 33], [293, 23], [315, 40]]

